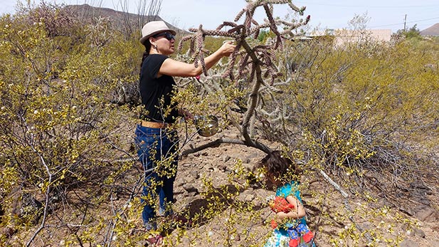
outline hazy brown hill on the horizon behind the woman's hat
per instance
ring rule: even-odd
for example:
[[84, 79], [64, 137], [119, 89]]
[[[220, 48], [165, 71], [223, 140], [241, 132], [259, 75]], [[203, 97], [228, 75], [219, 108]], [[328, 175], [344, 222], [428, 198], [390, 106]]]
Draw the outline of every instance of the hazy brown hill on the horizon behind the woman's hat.
[[[127, 26], [130, 26], [136, 28], [136, 30], [133, 31], [139, 31], [139, 33], [142, 30], [142, 26], [144, 25], [144, 23], [147, 23], [148, 21], [164, 21], [160, 16], [142, 16], [123, 11], [115, 11], [114, 9], [109, 8], [94, 7], [88, 4], [67, 5], [65, 6], [65, 9], [73, 11], [73, 13], [77, 14], [80, 19], [92, 19], [99, 16], [103, 18], [109, 18], [114, 21], [113, 23], [115, 23], [115, 25], [121, 28], [126, 28]], [[177, 28], [167, 21], [164, 22], [166, 23], [166, 25], [169, 26], [169, 28], [175, 30], [177, 33], [189, 33], [188, 31]], [[127, 25], [128, 23], [130, 23], [130, 25]]]

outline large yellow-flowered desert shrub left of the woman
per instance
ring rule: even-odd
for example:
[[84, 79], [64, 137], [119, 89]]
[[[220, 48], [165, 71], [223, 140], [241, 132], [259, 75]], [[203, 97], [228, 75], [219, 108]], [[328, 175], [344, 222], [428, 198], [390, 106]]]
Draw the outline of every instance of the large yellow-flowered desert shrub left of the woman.
[[[41, 226], [34, 236], [18, 235], [18, 243], [30, 243], [39, 231], [50, 231], [48, 215], [55, 211], [60, 213], [51, 222], [56, 225], [68, 228], [73, 222], [91, 221], [81, 212], [120, 191], [115, 180], [133, 164], [110, 162], [131, 157], [124, 151], [129, 141], [120, 128], [132, 115], [111, 102], [122, 101], [117, 90], [137, 80], [138, 72], [126, 68], [138, 67], [137, 61], [133, 65], [138, 46], [102, 25], [97, 28], [108, 28], [103, 30], [105, 43], [96, 42], [92, 36], [99, 32], [92, 31], [93, 23], [72, 36], [54, 33], [48, 28], [57, 25], [28, 21], [32, 15], [21, 12], [0, 21], [1, 225], [20, 233], [33, 224]], [[29, 205], [22, 199], [28, 194], [39, 205], [33, 216], [23, 214]], [[62, 206], [70, 213], [58, 211]], [[2, 236], [2, 244], [6, 241]]]

